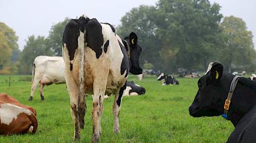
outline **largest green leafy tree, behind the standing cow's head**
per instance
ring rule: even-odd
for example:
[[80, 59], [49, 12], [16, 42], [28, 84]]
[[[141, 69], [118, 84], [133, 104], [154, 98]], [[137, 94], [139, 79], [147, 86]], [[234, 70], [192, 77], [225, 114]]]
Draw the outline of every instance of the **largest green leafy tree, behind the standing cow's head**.
[[[160, 0], [141, 5], [121, 19], [118, 34], [138, 33], [144, 62], [163, 70], [205, 69], [220, 44], [220, 5], [206, 0]], [[161, 62], [159, 62], [161, 60]]]

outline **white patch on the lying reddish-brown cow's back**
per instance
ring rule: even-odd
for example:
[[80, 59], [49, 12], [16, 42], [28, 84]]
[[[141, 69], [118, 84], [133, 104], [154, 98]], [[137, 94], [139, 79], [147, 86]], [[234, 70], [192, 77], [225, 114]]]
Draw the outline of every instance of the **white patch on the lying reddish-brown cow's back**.
[[9, 103], [0, 104], [0, 120], [1, 124], [9, 125], [13, 120], [17, 119], [18, 115], [21, 113], [25, 113], [31, 115], [31, 111], [26, 108], [21, 108], [16, 105], [12, 105]]

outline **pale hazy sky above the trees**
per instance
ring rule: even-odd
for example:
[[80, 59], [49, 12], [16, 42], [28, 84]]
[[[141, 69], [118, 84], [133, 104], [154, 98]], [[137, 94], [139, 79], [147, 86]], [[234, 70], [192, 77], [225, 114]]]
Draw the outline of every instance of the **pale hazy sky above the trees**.
[[[53, 24], [65, 17], [76, 18], [86, 14], [100, 22], [119, 25], [120, 19], [132, 8], [141, 4], [155, 5], [156, 0], [83, 0], [83, 1], [35, 1], [35, 0], [0, 0], [0, 22], [4, 22], [19, 36], [19, 48], [22, 50], [26, 39], [31, 35], [48, 36]], [[253, 35], [256, 46], [256, 0], [210, 0], [222, 6], [223, 16], [233, 15], [246, 22]]]

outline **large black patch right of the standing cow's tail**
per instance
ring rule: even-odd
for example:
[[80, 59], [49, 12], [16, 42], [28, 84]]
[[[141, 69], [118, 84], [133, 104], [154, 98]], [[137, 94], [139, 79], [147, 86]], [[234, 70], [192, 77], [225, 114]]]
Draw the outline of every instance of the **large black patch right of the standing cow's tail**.
[[87, 47], [95, 51], [96, 58], [99, 59], [102, 54], [103, 35], [101, 24], [95, 18], [86, 24], [86, 42]]

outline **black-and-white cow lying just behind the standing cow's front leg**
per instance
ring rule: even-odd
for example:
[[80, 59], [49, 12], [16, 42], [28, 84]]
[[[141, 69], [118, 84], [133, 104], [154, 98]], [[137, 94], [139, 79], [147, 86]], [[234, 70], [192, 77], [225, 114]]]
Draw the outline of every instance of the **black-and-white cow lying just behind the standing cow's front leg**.
[[[146, 93], [146, 90], [144, 87], [141, 87], [135, 84], [133, 81], [127, 81], [123, 96], [136, 96], [136, 95], [143, 95], [145, 93]], [[108, 99], [109, 96], [105, 95], [104, 98]]]

